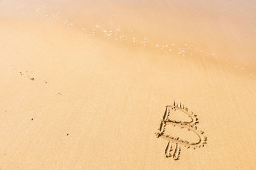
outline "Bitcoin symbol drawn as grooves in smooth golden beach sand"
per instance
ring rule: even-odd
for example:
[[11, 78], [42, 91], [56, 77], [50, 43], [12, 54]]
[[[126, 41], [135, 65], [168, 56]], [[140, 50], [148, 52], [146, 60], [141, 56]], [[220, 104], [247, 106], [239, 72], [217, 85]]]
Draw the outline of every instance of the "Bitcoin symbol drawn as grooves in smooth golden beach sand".
[[[170, 120], [169, 116], [174, 111], [182, 111], [186, 115], [188, 115], [189, 118], [191, 118], [190, 121], [177, 121], [177, 120]], [[193, 113], [193, 111], [189, 112], [188, 108], [185, 108], [183, 104], [173, 103], [173, 105], [166, 106], [166, 109], [164, 111], [163, 118], [160, 123], [160, 127], [158, 131], [155, 133], [156, 137], [166, 139], [168, 141], [167, 146], [165, 148], [164, 156], [165, 157], [173, 157], [174, 160], [179, 160], [180, 156], [180, 145], [185, 146], [186, 148], [200, 148], [201, 146], [204, 147], [207, 141], [207, 137], [203, 136], [203, 131], [198, 131], [196, 124], [198, 124], [198, 118], [197, 115]], [[180, 127], [181, 129], [186, 128], [188, 131], [192, 131], [198, 136], [199, 140], [196, 143], [189, 143], [188, 141], [184, 141], [179, 138], [174, 138], [171, 135], [165, 134], [166, 125], [173, 125]], [[174, 146], [173, 146], [174, 145]]]

